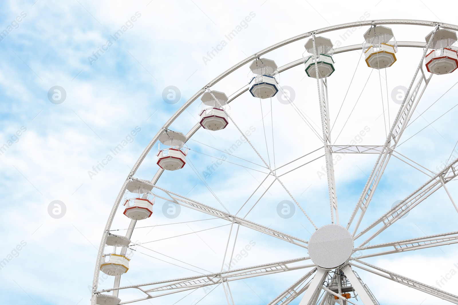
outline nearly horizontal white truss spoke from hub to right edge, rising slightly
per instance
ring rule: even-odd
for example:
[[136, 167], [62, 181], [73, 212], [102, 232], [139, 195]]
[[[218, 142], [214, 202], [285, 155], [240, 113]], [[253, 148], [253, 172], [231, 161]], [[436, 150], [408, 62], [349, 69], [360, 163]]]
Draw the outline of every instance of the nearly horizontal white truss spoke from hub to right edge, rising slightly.
[[431, 247], [437, 247], [437, 246], [445, 246], [445, 245], [451, 245], [451, 244], [456, 244], [456, 243], [458, 243], [458, 231], [444, 233], [444, 234], [428, 235], [428, 236], [418, 237], [418, 238], [411, 238], [411, 239], [406, 239], [403, 241], [387, 242], [387, 243], [377, 244], [377, 245], [367, 246], [367, 247], [360, 247], [360, 248], [354, 249], [354, 251], [356, 252], [356, 251], [364, 251], [364, 250], [377, 249], [377, 248], [394, 247], [393, 250], [358, 256], [357, 258], [360, 259], [360, 258], [375, 257], [375, 256], [404, 252], [404, 251], [418, 250], [418, 249], [431, 248]]

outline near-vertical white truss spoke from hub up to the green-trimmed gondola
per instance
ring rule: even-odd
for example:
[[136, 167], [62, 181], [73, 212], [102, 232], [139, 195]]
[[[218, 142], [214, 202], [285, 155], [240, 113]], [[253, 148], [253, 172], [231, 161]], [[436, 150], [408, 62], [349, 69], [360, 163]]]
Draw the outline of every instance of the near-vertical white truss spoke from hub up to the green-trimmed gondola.
[[[316, 86], [318, 89], [318, 100], [320, 102], [321, 124], [323, 129], [323, 145], [326, 159], [327, 187], [329, 189], [329, 205], [331, 208], [331, 223], [339, 224], [339, 213], [337, 209], [336, 182], [334, 177], [333, 156], [331, 154], [331, 135], [329, 124], [329, 112], [327, 102], [327, 78], [319, 78], [318, 55], [315, 46], [315, 34], [312, 34], [313, 56], [315, 58]], [[335, 217], [334, 217], [335, 214]]]

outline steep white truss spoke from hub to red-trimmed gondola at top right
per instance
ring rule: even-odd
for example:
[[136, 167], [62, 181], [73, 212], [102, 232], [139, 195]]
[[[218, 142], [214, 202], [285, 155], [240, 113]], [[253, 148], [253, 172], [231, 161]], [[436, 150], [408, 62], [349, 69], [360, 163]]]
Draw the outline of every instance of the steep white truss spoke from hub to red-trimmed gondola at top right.
[[[437, 25], [433, 32], [436, 32], [438, 28], [439, 26]], [[371, 176], [369, 177], [369, 179], [367, 180], [365, 184], [363, 193], [361, 193], [361, 197], [358, 200], [358, 203], [356, 204], [353, 210], [353, 213], [350, 216], [349, 222], [347, 224], [347, 230], [349, 230], [350, 225], [352, 224], [354, 218], [356, 217], [357, 212], [360, 211], [359, 218], [356, 222], [356, 225], [354, 226], [353, 236], [356, 234], [356, 231], [358, 230], [361, 220], [364, 217], [365, 211], [367, 210], [367, 207], [369, 206], [369, 203], [371, 202], [372, 196], [374, 195], [377, 185], [380, 182], [380, 179], [383, 175], [383, 171], [385, 170], [388, 164], [388, 161], [390, 160], [391, 149], [396, 148], [396, 145], [399, 143], [399, 139], [401, 138], [404, 129], [406, 128], [407, 124], [409, 123], [409, 120], [412, 114], [414, 113], [415, 108], [417, 107], [418, 103], [420, 102], [423, 92], [425, 92], [425, 89], [431, 80], [432, 74], [429, 78], [426, 78], [425, 73], [422, 68], [422, 64], [423, 64], [423, 59], [425, 58], [425, 55], [426, 55], [426, 51], [431, 46], [432, 37], [434, 37], [434, 35], [431, 35], [431, 39], [426, 44], [425, 49], [423, 50], [423, 56], [421, 57], [417, 70], [414, 73], [414, 77], [412, 78], [412, 81], [410, 82], [409, 89], [407, 90], [405, 94], [401, 107], [399, 107], [398, 115], [396, 116], [396, 119], [394, 120], [393, 127], [390, 129], [390, 134], [388, 135], [385, 141], [384, 147], [382, 151], [380, 152], [380, 155], [377, 158], [374, 168], [372, 169]], [[417, 75], [420, 72], [420, 70], [421, 70], [422, 75], [420, 76], [420, 80], [418, 80], [417, 85], [413, 88], [414, 81], [417, 78]], [[424, 86], [422, 87], [422, 85]], [[412, 89], [414, 90], [412, 91]]]

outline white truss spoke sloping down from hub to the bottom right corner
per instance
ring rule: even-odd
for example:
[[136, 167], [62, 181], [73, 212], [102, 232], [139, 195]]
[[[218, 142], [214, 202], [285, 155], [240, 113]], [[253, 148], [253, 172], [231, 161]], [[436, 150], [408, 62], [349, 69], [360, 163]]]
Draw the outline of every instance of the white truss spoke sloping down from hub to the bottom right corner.
[[[374, 265], [368, 264], [367, 262], [363, 262], [363, 261], [360, 261], [358, 259], [354, 259], [354, 261], [359, 262], [359, 263], [361, 263], [363, 265], [366, 265], [366, 266], [368, 266], [370, 268], [366, 268], [366, 267], [360, 266], [360, 265], [355, 265], [355, 264], [352, 263], [351, 265], [354, 266], [354, 267], [360, 268], [360, 269], [368, 271], [370, 273], [374, 273], [374, 274], [379, 275], [379, 276], [381, 276], [383, 278], [391, 279], [392, 281], [394, 281], [396, 283], [403, 284], [403, 285], [406, 285], [408, 287], [411, 287], [411, 288], [420, 290], [422, 292], [425, 292], [427, 294], [434, 295], [434, 296], [436, 296], [438, 298], [441, 298], [443, 300], [447, 300], [447, 301], [452, 302], [454, 304], [458, 304], [458, 296], [456, 296], [454, 294], [451, 294], [451, 293], [443, 291], [441, 289], [437, 289], [435, 287], [420, 283], [420, 282], [415, 281], [415, 280], [413, 280], [411, 278], [406, 278], [406, 277], [404, 277], [402, 275], [399, 275], [399, 274], [393, 273], [391, 271], [376, 267]], [[375, 271], [373, 269], [375, 269], [375, 270], [377, 270], [379, 272], [377, 272], [377, 271]]]

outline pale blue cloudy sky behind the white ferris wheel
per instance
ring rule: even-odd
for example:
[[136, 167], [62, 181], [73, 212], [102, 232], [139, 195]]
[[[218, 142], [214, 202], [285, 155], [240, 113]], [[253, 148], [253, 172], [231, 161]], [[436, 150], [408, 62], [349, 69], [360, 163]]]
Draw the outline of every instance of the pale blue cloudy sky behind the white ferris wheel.
[[[361, 18], [458, 24], [457, 6], [450, 4], [449, 8], [442, 10], [424, 1], [391, 0], [351, 4], [333, 0], [1, 1], [0, 147], [6, 149], [0, 155], [0, 192], [4, 202], [0, 260], [6, 262], [0, 270], [0, 302], [90, 304], [98, 246], [132, 166], [164, 123], [197, 91], [234, 64], [289, 37]], [[398, 41], [425, 42], [432, 30], [391, 27]], [[234, 29], [238, 34], [229, 39]], [[344, 31], [323, 36], [339, 47], [362, 43], [366, 30], [360, 27], [349, 36], [342, 36]], [[262, 57], [275, 60], [278, 66], [301, 59], [306, 55], [306, 40]], [[219, 51], [215, 52], [215, 48]], [[333, 56], [336, 71], [328, 78], [328, 88], [335, 144], [384, 143], [399, 109], [393, 92], [398, 86], [409, 86], [422, 54], [422, 48], [399, 48], [393, 67], [380, 71], [366, 66], [361, 50]], [[251, 76], [248, 66], [240, 67], [212, 89], [232, 96], [247, 87]], [[458, 87], [453, 86], [457, 75], [458, 72], [434, 75], [397, 148], [431, 171], [439, 171], [453, 155], [458, 157], [457, 152], [453, 153], [458, 140], [454, 128]], [[322, 146], [302, 119], [308, 118], [317, 134], [322, 133], [316, 80], [306, 77], [304, 66], [299, 65], [281, 73], [279, 84], [292, 92], [290, 97], [301, 116], [280, 95], [259, 101], [245, 92], [228, 107], [231, 118], [243, 132], [251, 131], [253, 146], [273, 167]], [[167, 99], [170, 88], [175, 91], [173, 101]], [[198, 122], [200, 107], [197, 99], [170, 129], [186, 134]], [[185, 167], [165, 171], [157, 185], [215, 209], [237, 213], [267, 174], [250, 145], [239, 145], [239, 140], [240, 133], [232, 122], [220, 131], [199, 129], [186, 143], [189, 150]], [[237, 150], [229, 155], [224, 150], [233, 144]], [[122, 150], [114, 153], [112, 150], [119, 145]], [[136, 178], [153, 178], [158, 171], [156, 154], [157, 143]], [[223, 155], [228, 162], [210, 171], [208, 168], [218, 158], [224, 159]], [[322, 150], [315, 151], [285, 166], [281, 173], [311, 161], [280, 178], [318, 227], [330, 223], [321, 155]], [[377, 155], [338, 156], [336, 189], [340, 224], [345, 225]], [[428, 179], [421, 171], [392, 157], [360, 229]], [[280, 216], [279, 204], [284, 200], [291, 203], [292, 199], [277, 182], [266, 191], [271, 182], [262, 184], [240, 215], [247, 214], [248, 220], [308, 240], [313, 225], [297, 206], [290, 218]], [[447, 188], [452, 198], [457, 198], [457, 182], [447, 183]], [[164, 193], [158, 195], [164, 197]], [[59, 204], [60, 211], [53, 213], [54, 204]], [[229, 262], [228, 257], [223, 262], [227, 244], [229, 249], [234, 248], [234, 256], [240, 257], [234, 268], [308, 256], [306, 249], [245, 227], [240, 227], [235, 239], [236, 225], [231, 228], [227, 221], [210, 219], [209, 215], [185, 207], [176, 218], [170, 218], [167, 208], [165, 200], [156, 198], [153, 215], [137, 223], [142, 228], [135, 230], [132, 241], [140, 246], [132, 251], [130, 269], [121, 285], [219, 272]], [[123, 211], [123, 206], [116, 211], [111, 228], [117, 230], [114, 234], [125, 233], [129, 225]], [[441, 188], [371, 242], [456, 231], [457, 220], [458, 213]], [[457, 246], [449, 245], [365, 261], [458, 294], [457, 254]], [[355, 270], [381, 304], [448, 304]], [[267, 304], [303, 274], [304, 270], [295, 270], [231, 282], [234, 303]], [[444, 277], [447, 281], [442, 280]], [[112, 284], [113, 278], [104, 276], [100, 289]], [[211, 292], [197, 289], [188, 293], [154, 302], [225, 302], [221, 286]], [[141, 293], [134, 289], [120, 293], [122, 300], [139, 297]]]

